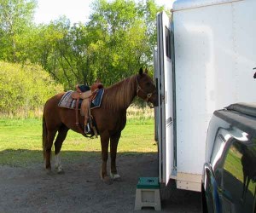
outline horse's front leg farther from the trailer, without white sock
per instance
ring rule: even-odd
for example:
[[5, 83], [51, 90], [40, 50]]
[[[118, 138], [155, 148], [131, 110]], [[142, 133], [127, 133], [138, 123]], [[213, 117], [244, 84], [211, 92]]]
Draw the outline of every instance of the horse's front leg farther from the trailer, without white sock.
[[112, 181], [108, 176], [107, 172], [107, 161], [108, 161], [108, 143], [109, 143], [109, 134], [108, 131], [101, 133], [101, 144], [102, 144], [102, 170], [101, 177], [102, 181], [107, 184], [111, 184]]

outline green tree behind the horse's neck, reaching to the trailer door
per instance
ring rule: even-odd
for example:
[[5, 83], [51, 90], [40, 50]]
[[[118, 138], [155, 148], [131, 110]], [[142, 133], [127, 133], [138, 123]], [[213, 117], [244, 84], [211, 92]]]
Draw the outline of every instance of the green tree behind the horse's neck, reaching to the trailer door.
[[154, 0], [146, 3], [96, 0], [92, 9], [88, 29], [95, 35], [91, 41], [96, 50], [101, 51], [96, 62], [98, 78], [103, 78], [107, 85], [112, 84], [137, 72], [140, 66], [152, 64], [155, 17], [163, 7], [157, 6]]

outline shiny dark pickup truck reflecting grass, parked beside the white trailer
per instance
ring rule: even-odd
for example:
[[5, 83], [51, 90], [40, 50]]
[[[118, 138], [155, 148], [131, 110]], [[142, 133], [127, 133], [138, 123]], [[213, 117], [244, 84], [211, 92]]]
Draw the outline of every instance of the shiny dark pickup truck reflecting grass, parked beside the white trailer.
[[206, 152], [204, 212], [256, 213], [256, 103], [215, 111]]

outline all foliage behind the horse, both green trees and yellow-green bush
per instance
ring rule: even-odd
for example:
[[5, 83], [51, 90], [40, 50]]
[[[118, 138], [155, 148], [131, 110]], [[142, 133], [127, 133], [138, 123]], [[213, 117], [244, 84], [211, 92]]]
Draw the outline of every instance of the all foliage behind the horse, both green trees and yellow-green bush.
[[100, 79], [108, 86], [141, 66], [153, 74], [155, 18], [164, 9], [154, 0], [95, 0], [90, 21], [73, 26], [65, 16], [35, 25], [36, 6], [0, 0], [0, 113], [29, 116], [62, 90], [56, 83], [67, 90]]

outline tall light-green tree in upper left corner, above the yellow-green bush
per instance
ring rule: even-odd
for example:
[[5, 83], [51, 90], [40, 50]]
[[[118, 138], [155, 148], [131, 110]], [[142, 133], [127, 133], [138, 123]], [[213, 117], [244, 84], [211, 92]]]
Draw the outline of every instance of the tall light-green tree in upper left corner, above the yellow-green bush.
[[0, 0], [0, 59], [19, 61], [26, 39], [33, 26], [35, 0]]

